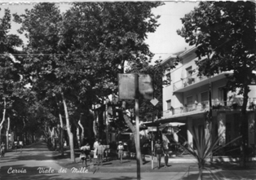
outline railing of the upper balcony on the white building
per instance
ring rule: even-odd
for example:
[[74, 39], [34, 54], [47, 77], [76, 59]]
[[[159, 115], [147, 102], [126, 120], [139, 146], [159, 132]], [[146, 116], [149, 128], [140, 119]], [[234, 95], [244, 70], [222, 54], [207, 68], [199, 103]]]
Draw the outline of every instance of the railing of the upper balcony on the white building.
[[205, 77], [205, 76], [198, 77], [197, 75], [198, 75], [198, 72], [192, 74], [189, 77], [181, 78], [180, 81], [174, 82], [174, 90], [179, 90], [186, 86], [192, 85], [193, 83], [207, 79], [207, 77]]

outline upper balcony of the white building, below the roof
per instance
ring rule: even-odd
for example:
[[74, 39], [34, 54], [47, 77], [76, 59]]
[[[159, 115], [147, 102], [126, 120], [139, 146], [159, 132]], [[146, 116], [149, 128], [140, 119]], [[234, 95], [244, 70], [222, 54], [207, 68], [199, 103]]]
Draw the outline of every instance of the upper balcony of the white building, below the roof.
[[[222, 73], [216, 74], [213, 77], [211, 77], [211, 81], [218, 81], [220, 79], [225, 78], [226, 74], [231, 74], [231, 73], [232, 72], [222, 72]], [[181, 78], [180, 81], [174, 82], [173, 90], [176, 93], [192, 90], [196, 87], [207, 85], [209, 83], [209, 81], [207, 81], [208, 79], [209, 78], [205, 76], [198, 77], [198, 72], [196, 72], [189, 77]]]

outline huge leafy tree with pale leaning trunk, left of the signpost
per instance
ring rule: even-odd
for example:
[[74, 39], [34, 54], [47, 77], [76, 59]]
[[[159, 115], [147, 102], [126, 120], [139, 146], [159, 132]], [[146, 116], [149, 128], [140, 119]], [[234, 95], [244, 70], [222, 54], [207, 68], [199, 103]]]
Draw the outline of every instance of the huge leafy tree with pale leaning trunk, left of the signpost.
[[[68, 115], [76, 124], [82, 108], [88, 111], [102, 97], [117, 92], [117, 73], [124, 72], [125, 62], [152, 58], [144, 40], [157, 29], [158, 16], [151, 9], [161, 4], [81, 2], [61, 14], [54, 3], [38, 3], [24, 15], [14, 15], [21, 24], [18, 32], [29, 40], [21, 61], [24, 79], [40, 106], [52, 106], [49, 116], [56, 109], [65, 112], [70, 141]], [[53, 106], [56, 98], [62, 99], [64, 108]]]

